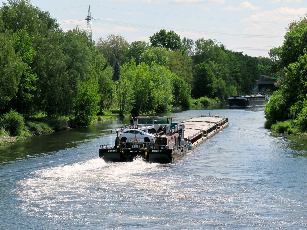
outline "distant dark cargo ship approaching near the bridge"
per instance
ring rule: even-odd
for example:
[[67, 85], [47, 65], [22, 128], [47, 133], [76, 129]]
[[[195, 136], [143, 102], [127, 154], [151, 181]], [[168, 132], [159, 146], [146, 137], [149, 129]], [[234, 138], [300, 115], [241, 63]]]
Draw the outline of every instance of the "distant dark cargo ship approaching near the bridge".
[[270, 98], [268, 94], [264, 93], [254, 93], [251, 95], [244, 96], [231, 96], [227, 98], [229, 106], [251, 106], [251, 105], [263, 105], [265, 102], [268, 102]]

